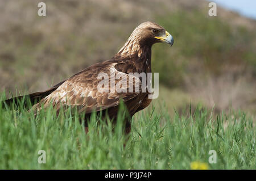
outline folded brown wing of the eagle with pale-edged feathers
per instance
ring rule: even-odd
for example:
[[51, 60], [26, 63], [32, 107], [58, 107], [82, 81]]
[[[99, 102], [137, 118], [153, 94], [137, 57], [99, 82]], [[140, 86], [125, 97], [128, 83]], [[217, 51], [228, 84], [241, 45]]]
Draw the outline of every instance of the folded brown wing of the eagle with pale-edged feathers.
[[[44, 107], [52, 104], [57, 109], [61, 105], [77, 106], [79, 112], [90, 113], [93, 110], [100, 111], [117, 106], [121, 99], [123, 102], [127, 102], [127, 100], [135, 98], [141, 91], [140, 79], [134, 75], [118, 71], [115, 69], [115, 64], [96, 64], [73, 75], [46, 98], [42, 99], [40, 103], [36, 104], [34, 108], [40, 109], [42, 103]], [[98, 84], [102, 81], [102, 79], [98, 79], [99, 73], [107, 74], [109, 77], [108, 86], [104, 87], [105, 91], [98, 90]], [[111, 79], [112, 75], [117, 78]], [[114, 81], [112, 82], [112, 80]], [[119, 92], [120, 89], [113, 89], [113, 86], [117, 85], [124, 92]], [[129, 92], [130, 86], [133, 86], [132, 92]], [[139, 87], [139, 91], [138, 89], [135, 91], [135, 86]]]

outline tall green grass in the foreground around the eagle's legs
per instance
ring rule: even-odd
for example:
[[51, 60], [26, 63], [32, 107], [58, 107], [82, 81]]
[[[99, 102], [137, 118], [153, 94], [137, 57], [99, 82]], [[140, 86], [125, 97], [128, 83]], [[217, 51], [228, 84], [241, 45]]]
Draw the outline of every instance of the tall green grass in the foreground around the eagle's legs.
[[[256, 131], [242, 112], [213, 116], [197, 109], [171, 119], [151, 106], [133, 117], [127, 138], [122, 112], [114, 128], [93, 116], [85, 134], [70, 111], [56, 116], [49, 108], [35, 117], [22, 106], [2, 106], [0, 169], [191, 169], [195, 161], [208, 169], [256, 169]], [[45, 164], [38, 163], [39, 150], [46, 151]], [[217, 151], [216, 164], [208, 163], [209, 150]]]

